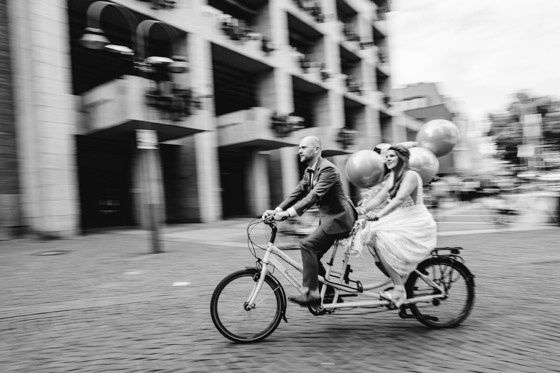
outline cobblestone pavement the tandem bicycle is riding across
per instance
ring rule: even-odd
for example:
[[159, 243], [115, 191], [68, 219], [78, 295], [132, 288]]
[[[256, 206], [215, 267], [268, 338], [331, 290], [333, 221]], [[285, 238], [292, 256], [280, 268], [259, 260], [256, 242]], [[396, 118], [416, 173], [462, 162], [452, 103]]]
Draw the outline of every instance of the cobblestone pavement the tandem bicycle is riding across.
[[[141, 231], [0, 243], [0, 372], [560, 372], [560, 228], [440, 237], [465, 248], [476, 276], [474, 310], [455, 329], [289, 305], [267, 340], [238, 345], [209, 302], [254, 263], [246, 223], [167, 229], [161, 254]], [[381, 276], [369, 254], [354, 262], [352, 278]]]

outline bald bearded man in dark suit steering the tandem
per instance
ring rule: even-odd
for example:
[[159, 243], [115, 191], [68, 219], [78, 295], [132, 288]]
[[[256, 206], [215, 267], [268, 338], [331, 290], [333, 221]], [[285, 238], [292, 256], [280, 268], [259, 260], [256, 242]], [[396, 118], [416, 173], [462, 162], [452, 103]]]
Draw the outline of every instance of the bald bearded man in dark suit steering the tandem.
[[267, 210], [263, 215], [275, 220], [300, 216], [316, 205], [320, 223], [317, 229], [300, 243], [303, 262], [303, 294], [289, 297], [290, 301], [302, 306], [319, 305], [318, 275], [324, 276], [321, 258], [334, 241], [346, 237], [358, 213], [352, 201], [344, 192], [338, 168], [321, 156], [321, 140], [308, 136], [299, 144], [300, 162], [307, 163], [302, 179], [294, 191], [275, 210]]

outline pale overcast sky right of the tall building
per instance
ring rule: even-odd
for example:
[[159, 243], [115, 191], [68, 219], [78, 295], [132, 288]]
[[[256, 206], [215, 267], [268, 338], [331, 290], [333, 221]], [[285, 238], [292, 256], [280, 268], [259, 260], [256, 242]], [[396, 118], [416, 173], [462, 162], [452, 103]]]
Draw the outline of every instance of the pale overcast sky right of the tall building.
[[387, 28], [393, 86], [435, 82], [470, 121], [560, 99], [560, 0], [392, 0]]

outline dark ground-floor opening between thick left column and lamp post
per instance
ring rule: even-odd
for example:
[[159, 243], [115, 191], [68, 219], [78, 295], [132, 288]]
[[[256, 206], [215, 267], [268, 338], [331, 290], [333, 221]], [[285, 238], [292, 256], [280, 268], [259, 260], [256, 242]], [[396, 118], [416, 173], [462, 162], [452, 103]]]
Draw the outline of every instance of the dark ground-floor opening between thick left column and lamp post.
[[133, 144], [77, 136], [76, 145], [82, 232], [134, 225]]

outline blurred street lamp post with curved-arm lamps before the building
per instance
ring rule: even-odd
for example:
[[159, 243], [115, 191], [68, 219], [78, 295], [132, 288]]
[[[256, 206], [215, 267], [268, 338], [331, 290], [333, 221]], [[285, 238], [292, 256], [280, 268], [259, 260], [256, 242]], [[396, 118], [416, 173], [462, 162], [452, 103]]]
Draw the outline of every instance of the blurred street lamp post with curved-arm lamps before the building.
[[[116, 9], [128, 23], [131, 32], [132, 48], [122, 45], [111, 44], [101, 29], [101, 14], [107, 7]], [[87, 27], [80, 39], [80, 44], [89, 49], [107, 49], [124, 56], [132, 56], [134, 58], [134, 67], [139, 71], [141, 77], [150, 79], [150, 76], [156, 77], [158, 72], [166, 70], [169, 73], [184, 73], [188, 70], [187, 62], [184, 58], [169, 58], [159, 56], [147, 56], [147, 37], [152, 27], [158, 26], [162, 28], [170, 41], [177, 40], [179, 33], [171, 26], [155, 20], [143, 20], [138, 23], [136, 16], [122, 5], [110, 3], [107, 1], [97, 1], [92, 3], [87, 10]], [[173, 49], [173, 46], [172, 48]], [[150, 75], [151, 74], [151, 75]], [[151, 79], [150, 79], [151, 80]], [[151, 176], [157, 174], [156, 151], [158, 149], [157, 132], [148, 120], [143, 125], [144, 128], [137, 129], [137, 148], [144, 152], [140, 159], [144, 172], [144, 201], [146, 211], [148, 213], [148, 224], [151, 231], [152, 252], [160, 253], [163, 251], [160, 240], [160, 221], [159, 221], [159, 201], [158, 195], [152, 185]], [[154, 178], [157, 180], [157, 178]]]

